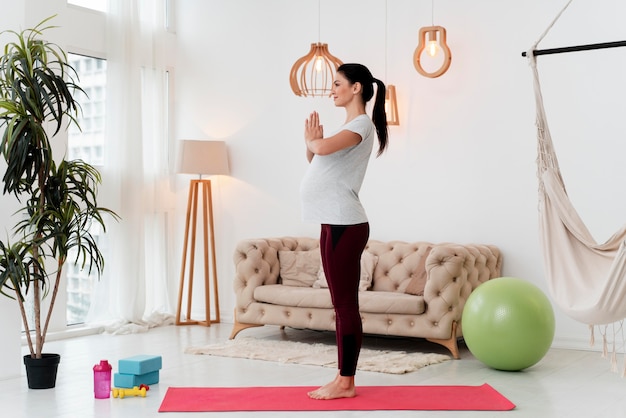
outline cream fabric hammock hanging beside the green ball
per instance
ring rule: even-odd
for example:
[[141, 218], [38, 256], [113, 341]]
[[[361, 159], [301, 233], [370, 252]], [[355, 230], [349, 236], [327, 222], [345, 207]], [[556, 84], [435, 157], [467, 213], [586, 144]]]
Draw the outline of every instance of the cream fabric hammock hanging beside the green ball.
[[550, 137], [532, 53], [570, 3], [526, 54], [537, 107], [540, 241], [548, 289], [558, 307], [579, 322], [606, 325], [626, 318], [626, 226], [598, 244], [572, 206]]

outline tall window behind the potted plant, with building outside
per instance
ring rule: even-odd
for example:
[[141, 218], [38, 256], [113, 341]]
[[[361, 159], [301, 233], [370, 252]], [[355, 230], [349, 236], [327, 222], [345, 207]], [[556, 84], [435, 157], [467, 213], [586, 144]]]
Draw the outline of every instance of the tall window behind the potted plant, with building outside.
[[[67, 158], [81, 159], [93, 166], [104, 164], [104, 119], [106, 100], [106, 60], [85, 55], [68, 54], [68, 61], [78, 75], [77, 84], [85, 94], [77, 93], [74, 98], [80, 104], [77, 120], [81, 129], [74, 124], [68, 130]], [[91, 231], [99, 241], [99, 248], [106, 253], [106, 243], [100, 226]], [[93, 285], [97, 275], [88, 274], [80, 265], [72, 264], [75, 254], [70, 254], [67, 264], [67, 325], [84, 323], [91, 304]]]

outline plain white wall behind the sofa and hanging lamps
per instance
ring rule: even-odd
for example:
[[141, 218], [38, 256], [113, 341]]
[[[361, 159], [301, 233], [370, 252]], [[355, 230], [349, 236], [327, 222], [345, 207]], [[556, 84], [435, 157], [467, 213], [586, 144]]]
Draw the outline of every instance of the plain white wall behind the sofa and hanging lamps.
[[[534, 99], [528, 49], [565, 1], [439, 0], [450, 70], [438, 79], [412, 64], [431, 2], [321, 1], [321, 38], [344, 62], [361, 62], [396, 85], [399, 127], [389, 151], [372, 160], [362, 200], [371, 238], [495, 244], [504, 275], [544, 289], [538, 243]], [[233, 248], [244, 238], [317, 236], [300, 221], [306, 169], [302, 123], [321, 113], [327, 132], [343, 118], [328, 99], [289, 88], [293, 62], [318, 41], [318, 2], [180, 0], [176, 132], [222, 138], [232, 178], [216, 197], [222, 315], [232, 318]], [[574, 2], [542, 47], [622, 40], [618, 0]], [[621, 52], [621, 54], [620, 54]], [[568, 190], [598, 240], [624, 222], [623, 51], [540, 59], [544, 98]], [[620, 163], [621, 162], [621, 163]], [[184, 208], [184, 185], [181, 208]], [[556, 346], [588, 346], [587, 326], [557, 311]]]

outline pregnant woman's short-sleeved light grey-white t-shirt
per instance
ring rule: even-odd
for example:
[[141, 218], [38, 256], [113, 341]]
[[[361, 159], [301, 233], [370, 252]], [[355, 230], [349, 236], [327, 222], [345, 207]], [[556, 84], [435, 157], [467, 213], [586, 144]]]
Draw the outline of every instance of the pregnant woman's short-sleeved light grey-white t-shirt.
[[372, 154], [376, 128], [359, 115], [339, 128], [361, 136], [361, 142], [329, 155], [314, 155], [300, 185], [302, 219], [331, 225], [367, 222], [359, 191]]

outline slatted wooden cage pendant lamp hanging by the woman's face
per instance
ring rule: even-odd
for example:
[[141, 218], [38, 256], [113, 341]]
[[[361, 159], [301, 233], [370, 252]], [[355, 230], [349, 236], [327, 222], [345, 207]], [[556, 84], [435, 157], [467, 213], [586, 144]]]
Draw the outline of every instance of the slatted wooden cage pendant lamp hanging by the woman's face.
[[328, 51], [328, 44], [320, 39], [320, 0], [317, 1], [318, 42], [311, 44], [308, 54], [291, 67], [289, 84], [296, 96], [330, 96], [337, 68], [343, 62]]

